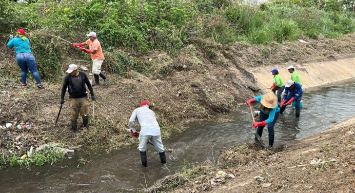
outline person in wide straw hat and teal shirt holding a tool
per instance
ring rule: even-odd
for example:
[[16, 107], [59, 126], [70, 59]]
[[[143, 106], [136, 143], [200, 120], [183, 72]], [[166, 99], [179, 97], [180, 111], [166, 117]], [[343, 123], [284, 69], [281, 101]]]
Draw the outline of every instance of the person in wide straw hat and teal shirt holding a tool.
[[264, 95], [259, 95], [254, 99], [249, 99], [247, 104], [258, 102], [260, 104], [259, 122], [253, 123], [253, 127], [258, 127], [257, 132], [261, 137], [263, 129], [267, 125], [269, 132], [269, 148], [272, 148], [275, 133], [273, 128], [280, 115], [280, 106], [278, 104], [278, 98], [273, 92], [269, 92]]

